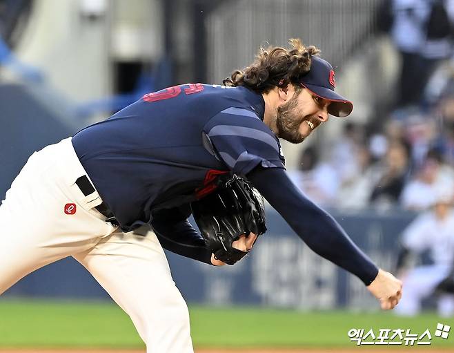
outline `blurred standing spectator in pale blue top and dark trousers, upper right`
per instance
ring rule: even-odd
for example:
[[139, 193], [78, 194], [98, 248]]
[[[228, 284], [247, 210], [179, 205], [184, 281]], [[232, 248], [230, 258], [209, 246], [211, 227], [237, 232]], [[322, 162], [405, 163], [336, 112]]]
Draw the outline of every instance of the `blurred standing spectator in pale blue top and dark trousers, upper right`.
[[454, 0], [384, 0], [378, 19], [402, 59], [397, 105], [419, 105], [440, 59], [452, 54]]

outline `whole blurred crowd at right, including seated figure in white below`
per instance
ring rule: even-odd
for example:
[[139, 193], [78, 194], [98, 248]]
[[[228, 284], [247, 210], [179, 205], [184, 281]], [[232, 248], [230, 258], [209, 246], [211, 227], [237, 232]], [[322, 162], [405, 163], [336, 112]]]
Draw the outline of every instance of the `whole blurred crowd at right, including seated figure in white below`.
[[346, 122], [323, 155], [306, 148], [290, 173], [323, 207], [415, 211], [396, 234], [395, 312], [415, 315], [431, 299], [454, 316], [454, 0], [383, 0], [378, 19], [401, 63], [389, 113]]

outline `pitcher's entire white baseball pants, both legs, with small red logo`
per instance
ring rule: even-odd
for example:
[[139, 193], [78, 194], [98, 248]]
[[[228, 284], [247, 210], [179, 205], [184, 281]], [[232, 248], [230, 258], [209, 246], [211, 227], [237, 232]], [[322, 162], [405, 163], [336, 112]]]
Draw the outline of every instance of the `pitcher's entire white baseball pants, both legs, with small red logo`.
[[70, 138], [29, 158], [0, 206], [0, 294], [73, 256], [130, 316], [147, 352], [193, 353], [188, 307], [155, 234], [105, 222], [94, 208], [99, 194], [85, 196], [75, 184], [82, 175]]

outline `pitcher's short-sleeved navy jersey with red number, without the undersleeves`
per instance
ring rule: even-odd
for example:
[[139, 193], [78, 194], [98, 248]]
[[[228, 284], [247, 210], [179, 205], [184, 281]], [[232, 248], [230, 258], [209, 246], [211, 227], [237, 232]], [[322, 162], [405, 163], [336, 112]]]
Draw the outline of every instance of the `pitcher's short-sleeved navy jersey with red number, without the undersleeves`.
[[284, 168], [279, 140], [262, 122], [264, 100], [247, 88], [186, 84], [145, 95], [72, 144], [121, 228], [195, 200], [210, 170], [245, 175]]

